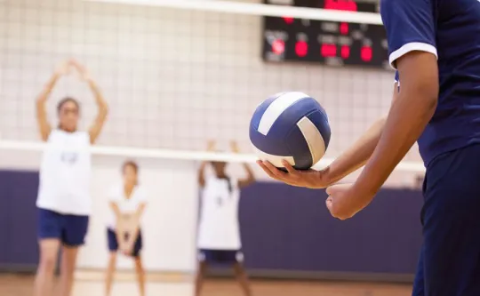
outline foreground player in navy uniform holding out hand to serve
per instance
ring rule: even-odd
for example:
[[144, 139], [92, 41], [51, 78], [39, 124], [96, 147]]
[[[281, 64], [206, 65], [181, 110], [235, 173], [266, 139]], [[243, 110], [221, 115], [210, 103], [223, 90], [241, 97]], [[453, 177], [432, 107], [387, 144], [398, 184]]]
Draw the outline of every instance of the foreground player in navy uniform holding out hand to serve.
[[324, 188], [365, 164], [354, 184], [327, 188], [327, 207], [348, 219], [370, 204], [417, 140], [427, 168], [423, 245], [414, 296], [480, 295], [480, 2], [381, 0], [398, 88], [380, 120], [322, 172], [290, 173], [259, 162], [288, 184]]

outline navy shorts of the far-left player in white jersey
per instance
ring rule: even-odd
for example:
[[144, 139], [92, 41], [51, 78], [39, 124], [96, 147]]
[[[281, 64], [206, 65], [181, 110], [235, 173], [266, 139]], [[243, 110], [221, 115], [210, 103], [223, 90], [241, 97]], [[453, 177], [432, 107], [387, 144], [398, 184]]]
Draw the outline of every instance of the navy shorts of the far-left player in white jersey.
[[88, 216], [38, 209], [38, 239], [58, 238], [63, 245], [81, 246], [85, 243], [88, 220]]

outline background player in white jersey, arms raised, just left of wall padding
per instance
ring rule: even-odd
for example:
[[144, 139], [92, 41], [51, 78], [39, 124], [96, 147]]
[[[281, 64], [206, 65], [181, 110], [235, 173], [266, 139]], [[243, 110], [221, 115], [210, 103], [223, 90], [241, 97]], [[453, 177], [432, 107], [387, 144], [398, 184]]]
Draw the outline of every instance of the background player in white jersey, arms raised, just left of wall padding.
[[[209, 150], [214, 143], [209, 143]], [[235, 142], [232, 150], [238, 152]], [[207, 164], [212, 164], [214, 174], [205, 177]], [[204, 273], [208, 264], [227, 264], [233, 266], [236, 279], [244, 295], [252, 295], [248, 277], [244, 271], [244, 255], [241, 252], [240, 227], [238, 222], [238, 203], [240, 188], [255, 181], [252, 169], [244, 164], [247, 177], [244, 180], [230, 178], [226, 171], [227, 164], [222, 162], [203, 163], [198, 174], [202, 188], [202, 212], [198, 229], [200, 267], [196, 276], [196, 296], [200, 294]]]

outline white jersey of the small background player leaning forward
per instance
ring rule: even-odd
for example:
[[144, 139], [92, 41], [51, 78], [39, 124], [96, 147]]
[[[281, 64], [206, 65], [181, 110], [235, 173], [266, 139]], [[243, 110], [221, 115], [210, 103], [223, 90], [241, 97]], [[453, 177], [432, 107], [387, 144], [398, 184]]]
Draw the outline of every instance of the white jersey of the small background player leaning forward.
[[[116, 203], [118, 209], [123, 214], [133, 214], [137, 212], [141, 204], [147, 203], [147, 195], [143, 188], [137, 185], [133, 188], [130, 198], [127, 198], [127, 196], [125, 196], [124, 184], [121, 183], [110, 188], [108, 202]], [[112, 209], [109, 211], [107, 227], [112, 230], [116, 228], [116, 216]]]

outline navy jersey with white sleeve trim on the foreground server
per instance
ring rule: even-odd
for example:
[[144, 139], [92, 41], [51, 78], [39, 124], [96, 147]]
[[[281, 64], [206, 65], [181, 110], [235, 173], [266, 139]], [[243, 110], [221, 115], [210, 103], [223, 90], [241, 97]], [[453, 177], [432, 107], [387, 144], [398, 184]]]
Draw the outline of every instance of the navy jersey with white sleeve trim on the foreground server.
[[380, 12], [392, 67], [412, 51], [438, 59], [438, 105], [418, 140], [425, 164], [480, 143], [480, 1], [381, 0]]

